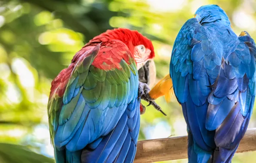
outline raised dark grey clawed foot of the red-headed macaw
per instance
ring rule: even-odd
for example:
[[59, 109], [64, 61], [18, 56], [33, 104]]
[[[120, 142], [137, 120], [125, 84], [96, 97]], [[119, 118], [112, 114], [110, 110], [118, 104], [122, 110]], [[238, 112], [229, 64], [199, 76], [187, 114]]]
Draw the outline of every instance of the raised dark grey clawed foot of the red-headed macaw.
[[[158, 110], [159, 112], [161, 112], [163, 115], [166, 116], [165, 112], [162, 111], [161, 107], [158, 106], [158, 104], [155, 103], [154, 99], [152, 99], [149, 96], [149, 91], [150, 91], [149, 86], [146, 83], [140, 82], [139, 90], [138, 90], [138, 98], [145, 100], [146, 102], [149, 102], [149, 105], [147, 106], [152, 105], [156, 110]], [[146, 107], [140, 103], [140, 114], [144, 114], [145, 111], [146, 111]]]

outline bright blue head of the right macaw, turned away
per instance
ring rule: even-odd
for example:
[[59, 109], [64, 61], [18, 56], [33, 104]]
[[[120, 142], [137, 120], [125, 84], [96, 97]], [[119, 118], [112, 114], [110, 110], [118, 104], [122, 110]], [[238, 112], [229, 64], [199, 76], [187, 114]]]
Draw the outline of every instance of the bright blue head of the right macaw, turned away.
[[205, 5], [199, 7], [195, 12], [195, 18], [198, 19], [200, 24], [219, 21], [223, 25], [230, 27], [228, 15], [217, 5]]

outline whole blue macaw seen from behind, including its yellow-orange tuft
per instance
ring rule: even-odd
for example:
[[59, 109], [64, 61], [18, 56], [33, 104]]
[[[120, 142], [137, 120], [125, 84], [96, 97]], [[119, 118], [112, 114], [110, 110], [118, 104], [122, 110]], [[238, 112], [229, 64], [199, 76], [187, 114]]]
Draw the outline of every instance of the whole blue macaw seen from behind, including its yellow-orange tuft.
[[217, 5], [201, 6], [181, 28], [170, 74], [149, 96], [174, 91], [187, 124], [189, 163], [231, 162], [253, 112], [255, 57], [253, 39], [245, 31], [236, 36]]

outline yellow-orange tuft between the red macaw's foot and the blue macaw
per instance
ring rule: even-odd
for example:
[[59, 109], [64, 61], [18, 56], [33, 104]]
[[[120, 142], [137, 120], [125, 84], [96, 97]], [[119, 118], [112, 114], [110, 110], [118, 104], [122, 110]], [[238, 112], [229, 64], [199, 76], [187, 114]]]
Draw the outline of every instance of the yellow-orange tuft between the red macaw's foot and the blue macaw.
[[171, 97], [174, 95], [173, 83], [168, 73], [162, 78], [149, 92], [149, 96], [152, 99], [157, 99], [158, 97], [165, 96], [167, 102], [171, 101]]

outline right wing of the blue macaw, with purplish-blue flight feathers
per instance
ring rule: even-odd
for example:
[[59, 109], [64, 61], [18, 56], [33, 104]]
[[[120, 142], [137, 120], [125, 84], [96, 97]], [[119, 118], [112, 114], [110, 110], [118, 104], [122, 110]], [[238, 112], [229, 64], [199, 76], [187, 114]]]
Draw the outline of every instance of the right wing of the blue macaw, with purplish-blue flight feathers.
[[256, 94], [256, 47], [250, 35], [243, 33], [235, 51], [222, 62], [208, 97], [206, 128], [216, 130], [215, 143], [222, 161], [229, 158], [244, 136]]

